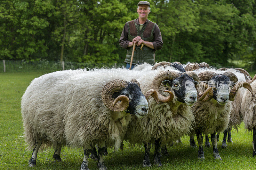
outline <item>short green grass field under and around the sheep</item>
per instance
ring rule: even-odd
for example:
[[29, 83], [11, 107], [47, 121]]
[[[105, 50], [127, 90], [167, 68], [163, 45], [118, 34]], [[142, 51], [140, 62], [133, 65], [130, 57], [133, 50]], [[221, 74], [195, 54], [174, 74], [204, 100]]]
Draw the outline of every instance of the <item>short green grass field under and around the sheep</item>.
[[[0, 73], [0, 169], [31, 169], [28, 160], [32, 151], [26, 150], [22, 137], [20, 100], [30, 81], [40, 75], [42, 73]], [[203, 147], [205, 160], [198, 160], [198, 148], [190, 147], [189, 138], [185, 137], [181, 138], [183, 144], [167, 147], [170, 156], [161, 159], [162, 167], [153, 165], [154, 149], [151, 149], [152, 167], [147, 169], [256, 169], [256, 158], [252, 157], [252, 133], [246, 132], [243, 124], [238, 133], [232, 133], [234, 144], [227, 143], [227, 149], [221, 148], [222, 138], [223, 134], [220, 135], [218, 149], [223, 161], [213, 158], [212, 147]], [[62, 161], [58, 163], [52, 158], [53, 152], [49, 148], [38, 152], [37, 166], [33, 169], [80, 168], [83, 161], [82, 148], [62, 148]], [[143, 146], [129, 148], [125, 143], [123, 152], [109, 149], [108, 153], [105, 156], [108, 169], [145, 169], [142, 167]], [[97, 162], [89, 159], [89, 168], [98, 169]]]

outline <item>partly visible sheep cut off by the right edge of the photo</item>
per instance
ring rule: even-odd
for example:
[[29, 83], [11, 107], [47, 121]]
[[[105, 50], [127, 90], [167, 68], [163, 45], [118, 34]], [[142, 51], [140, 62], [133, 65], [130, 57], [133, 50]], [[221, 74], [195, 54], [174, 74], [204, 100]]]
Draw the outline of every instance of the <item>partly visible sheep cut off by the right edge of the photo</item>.
[[[255, 77], [255, 76], [254, 76]], [[251, 82], [252, 91], [256, 96], [256, 81]], [[248, 91], [244, 93], [241, 112], [244, 115], [244, 128], [247, 131], [252, 131], [252, 156], [256, 155], [256, 97], [252, 97]]]

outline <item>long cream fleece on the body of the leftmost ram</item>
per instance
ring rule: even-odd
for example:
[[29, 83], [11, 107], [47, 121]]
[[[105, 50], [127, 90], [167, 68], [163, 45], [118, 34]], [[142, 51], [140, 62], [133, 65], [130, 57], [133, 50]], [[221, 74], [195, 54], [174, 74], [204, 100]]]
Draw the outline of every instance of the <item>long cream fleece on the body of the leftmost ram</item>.
[[21, 112], [28, 149], [42, 139], [44, 145], [57, 142], [72, 147], [92, 144], [120, 147], [131, 115], [109, 110], [101, 90], [109, 81], [130, 81], [134, 71], [85, 69], [44, 74], [28, 86], [21, 100]]

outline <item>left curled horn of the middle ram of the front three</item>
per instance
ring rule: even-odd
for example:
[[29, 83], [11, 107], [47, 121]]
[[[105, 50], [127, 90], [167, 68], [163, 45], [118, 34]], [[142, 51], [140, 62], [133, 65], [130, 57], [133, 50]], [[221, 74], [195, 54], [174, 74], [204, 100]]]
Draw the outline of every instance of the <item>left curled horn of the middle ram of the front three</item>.
[[162, 103], [169, 103], [172, 101], [174, 95], [171, 91], [164, 91], [164, 92], [168, 92], [170, 95], [169, 96], [163, 96], [160, 91], [159, 91], [159, 87], [162, 83], [162, 81], [164, 80], [174, 80], [176, 78], [178, 78], [180, 76], [179, 73], [175, 72], [175, 71], [163, 71], [161, 73], [159, 73], [158, 75], [155, 76], [152, 85], [151, 85], [151, 89], [156, 90], [159, 102]]

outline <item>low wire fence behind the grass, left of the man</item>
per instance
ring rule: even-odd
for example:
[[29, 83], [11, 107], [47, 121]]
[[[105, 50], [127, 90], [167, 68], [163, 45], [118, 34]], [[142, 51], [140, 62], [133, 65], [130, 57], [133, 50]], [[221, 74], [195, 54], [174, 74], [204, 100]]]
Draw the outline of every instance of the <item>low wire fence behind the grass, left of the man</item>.
[[122, 67], [124, 63], [78, 63], [69, 61], [15, 61], [15, 60], [0, 60], [0, 73], [2, 72], [53, 72], [67, 69], [77, 68], [94, 68], [94, 67]]

